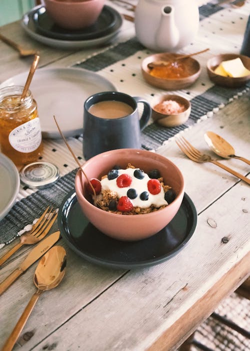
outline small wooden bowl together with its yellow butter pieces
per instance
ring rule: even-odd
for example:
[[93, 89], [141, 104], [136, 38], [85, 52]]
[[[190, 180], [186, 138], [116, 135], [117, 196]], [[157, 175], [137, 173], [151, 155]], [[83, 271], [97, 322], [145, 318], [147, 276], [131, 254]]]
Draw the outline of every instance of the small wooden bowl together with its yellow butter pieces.
[[250, 79], [250, 58], [237, 54], [216, 55], [207, 61], [206, 70], [216, 85], [237, 88]]

